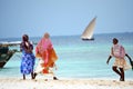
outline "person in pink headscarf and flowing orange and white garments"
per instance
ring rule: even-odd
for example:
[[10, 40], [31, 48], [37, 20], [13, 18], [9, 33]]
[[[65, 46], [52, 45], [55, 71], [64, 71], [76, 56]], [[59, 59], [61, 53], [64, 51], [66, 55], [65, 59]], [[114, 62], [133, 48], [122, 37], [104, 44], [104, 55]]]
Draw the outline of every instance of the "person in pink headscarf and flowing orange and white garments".
[[55, 60], [58, 60], [58, 57], [48, 32], [44, 33], [43, 38], [37, 44], [35, 57], [39, 58], [39, 63], [34, 71], [34, 78], [38, 73], [52, 73], [53, 80], [58, 80], [52, 71], [55, 67]]

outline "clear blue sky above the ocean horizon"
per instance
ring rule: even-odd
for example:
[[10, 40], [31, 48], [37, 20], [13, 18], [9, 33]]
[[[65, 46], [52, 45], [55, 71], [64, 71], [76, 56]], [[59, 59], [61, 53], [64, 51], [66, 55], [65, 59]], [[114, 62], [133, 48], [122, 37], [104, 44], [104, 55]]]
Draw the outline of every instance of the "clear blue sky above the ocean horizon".
[[0, 0], [0, 38], [133, 32], [133, 0]]

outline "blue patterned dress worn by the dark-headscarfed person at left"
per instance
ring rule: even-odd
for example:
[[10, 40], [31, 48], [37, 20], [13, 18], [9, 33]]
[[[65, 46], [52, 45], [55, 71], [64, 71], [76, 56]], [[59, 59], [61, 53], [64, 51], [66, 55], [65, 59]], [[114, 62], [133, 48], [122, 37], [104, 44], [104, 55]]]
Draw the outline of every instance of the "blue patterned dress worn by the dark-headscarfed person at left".
[[[30, 47], [32, 48], [32, 44], [30, 44]], [[32, 52], [25, 51], [23, 43], [21, 43], [21, 50], [22, 50], [22, 59], [21, 59], [20, 71], [23, 75], [29, 75], [33, 72], [35, 57]]]

